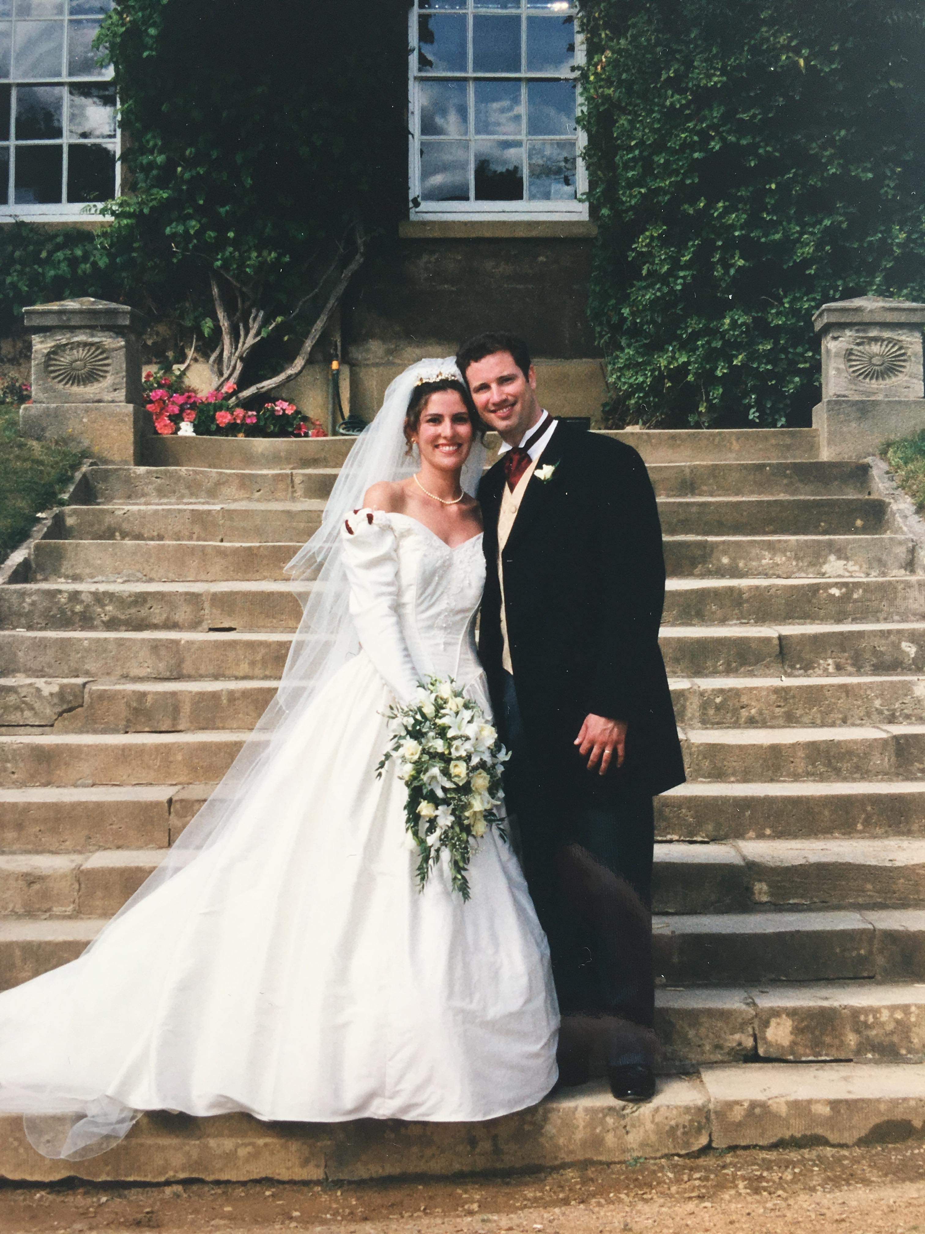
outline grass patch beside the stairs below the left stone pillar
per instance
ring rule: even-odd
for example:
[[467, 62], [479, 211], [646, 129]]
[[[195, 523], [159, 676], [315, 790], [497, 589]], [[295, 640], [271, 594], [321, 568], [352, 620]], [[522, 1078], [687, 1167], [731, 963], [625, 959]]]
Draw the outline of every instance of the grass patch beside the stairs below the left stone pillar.
[[80, 466], [81, 455], [56, 442], [33, 442], [20, 433], [20, 408], [0, 402], [0, 561], [28, 536], [36, 515], [58, 503], [58, 495]]

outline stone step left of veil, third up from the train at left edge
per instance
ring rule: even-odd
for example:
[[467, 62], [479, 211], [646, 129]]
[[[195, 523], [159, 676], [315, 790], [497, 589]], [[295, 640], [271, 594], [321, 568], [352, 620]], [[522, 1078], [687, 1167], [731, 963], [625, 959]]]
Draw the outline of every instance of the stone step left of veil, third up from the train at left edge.
[[163, 849], [215, 785], [0, 789], [0, 853]]

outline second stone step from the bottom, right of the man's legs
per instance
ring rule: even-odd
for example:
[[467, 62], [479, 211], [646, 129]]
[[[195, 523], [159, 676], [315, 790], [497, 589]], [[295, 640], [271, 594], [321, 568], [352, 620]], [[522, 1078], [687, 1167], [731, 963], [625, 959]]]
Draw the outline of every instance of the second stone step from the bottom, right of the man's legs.
[[814, 981], [660, 988], [666, 1058], [709, 1064], [925, 1059], [925, 986]]

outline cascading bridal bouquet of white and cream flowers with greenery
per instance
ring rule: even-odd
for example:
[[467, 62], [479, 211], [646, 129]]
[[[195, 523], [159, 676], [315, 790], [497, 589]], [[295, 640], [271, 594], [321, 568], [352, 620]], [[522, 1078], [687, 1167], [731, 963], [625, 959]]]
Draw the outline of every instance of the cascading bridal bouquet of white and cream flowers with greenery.
[[481, 708], [446, 677], [429, 677], [409, 703], [390, 707], [390, 759], [408, 790], [405, 826], [418, 853], [417, 880], [427, 882], [446, 853], [453, 890], [469, 900], [466, 870], [472, 849], [490, 827], [507, 843], [495, 807], [501, 803], [501, 769], [509, 758]]

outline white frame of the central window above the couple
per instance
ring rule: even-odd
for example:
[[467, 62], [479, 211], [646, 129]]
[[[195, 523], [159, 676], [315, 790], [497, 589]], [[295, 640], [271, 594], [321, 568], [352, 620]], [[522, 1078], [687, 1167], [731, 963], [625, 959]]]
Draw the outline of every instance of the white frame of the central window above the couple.
[[[529, 10], [530, 2], [525, 0]], [[577, 5], [575, 5], [577, 17]], [[451, 11], [451, 10], [445, 10]], [[438, 15], [440, 10], [428, 10], [428, 14]], [[538, 14], [539, 16], [539, 14]], [[421, 116], [417, 106], [416, 83], [435, 78], [438, 80], [455, 80], [471, 83], [474, 80], [498, 80], [498, 81], [523, 81], [523, 80], [549, 80], [561, 81], [561, 73], [418, 73], [418, 6], [417, 0], [411, 5], [408, 12], [408, 217], [422, 222], [437, 222], [440, 220], [464, 222], [490, 221], [520, 221], [535, 220], [548, 222], [581, 221], [588, 217], [587, 201], [581, 200], [587, 195], [587, 170], [585, 168], [585, 133], [578, 127], [576, 137], [576, 201], [428, 201], [414, 206], [411, 202], [421, 200], [421, 162], [418, 149], [421, 147]], [[585, 63], [585, 42], [578, 32], [577, 21], [575, 26], [575, 64]], [[470, 85], [471, 89], [471, 85]], [[581, 86], [576, 83], [576, 105], [581, 107]], [[472, 109], [470, 106], [470, 123]], [[472, 137], [470, 133], [470, 142]], [[524, 173], [525, 173], [524, 168]]]

